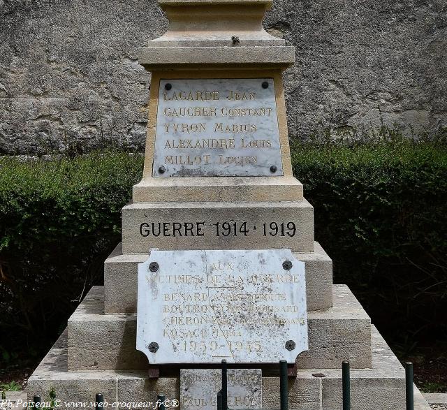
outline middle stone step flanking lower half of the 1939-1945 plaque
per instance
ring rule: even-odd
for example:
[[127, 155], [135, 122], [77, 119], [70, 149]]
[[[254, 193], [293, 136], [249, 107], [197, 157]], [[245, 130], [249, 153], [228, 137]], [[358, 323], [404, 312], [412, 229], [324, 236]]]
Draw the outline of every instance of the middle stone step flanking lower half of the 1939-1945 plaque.
[[[325, 312], [309, 312], [309, 351], [298, 367], [336, 368], [342, 360], [370, 367], [369, 316], [347, 286], [333, 286], [332, 299]], [[68, 320], [68, 369], [146, 369], [147, 358], [135, 346], [136, 314], [104, 314], [103, 287], [91, 288]]]

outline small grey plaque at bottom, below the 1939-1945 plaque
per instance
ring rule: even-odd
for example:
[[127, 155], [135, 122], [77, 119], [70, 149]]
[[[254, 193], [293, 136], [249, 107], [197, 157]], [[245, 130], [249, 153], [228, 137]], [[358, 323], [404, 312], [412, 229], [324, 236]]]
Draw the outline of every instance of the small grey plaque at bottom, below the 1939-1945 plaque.
[[[261, 409], [261, 369], [228, 369], [227, 379], [230, 409]], [[221, 387], [222, 371], [219, 369], [181, 369], [180, 407], [182, 410], [216, 410]]]

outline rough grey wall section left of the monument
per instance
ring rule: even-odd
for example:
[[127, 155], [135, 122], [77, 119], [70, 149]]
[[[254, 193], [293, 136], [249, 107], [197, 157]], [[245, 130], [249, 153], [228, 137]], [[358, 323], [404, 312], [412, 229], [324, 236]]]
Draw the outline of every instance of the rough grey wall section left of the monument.
[[137, 49], [166, 27], [155, 1], [0, 1], [0, 151], [141, 149]]

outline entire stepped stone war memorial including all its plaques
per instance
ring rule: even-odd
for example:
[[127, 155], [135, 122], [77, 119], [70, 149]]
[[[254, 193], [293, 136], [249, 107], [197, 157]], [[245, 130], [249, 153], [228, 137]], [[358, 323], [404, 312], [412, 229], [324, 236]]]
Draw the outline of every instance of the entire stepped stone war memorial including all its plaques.
[[282, 83], [295, 50], [264, 31], [270, 3], [159, 0], [170, 27], [140, 50], [147, 145], [122, 243], [29, 395], [216, 409], [226, 360], [230, 408], [278, 409], [286, 360], [289, 408], [336, 410], [349, 360], [353, 409], [405, 408], [402, 365], [314, 242]]

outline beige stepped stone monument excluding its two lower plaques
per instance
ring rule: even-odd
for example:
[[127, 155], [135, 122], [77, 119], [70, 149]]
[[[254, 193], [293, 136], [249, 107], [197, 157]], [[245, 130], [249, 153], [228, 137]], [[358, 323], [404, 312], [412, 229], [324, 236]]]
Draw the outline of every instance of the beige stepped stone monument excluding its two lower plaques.
[[[105, 261], [104, 286], [91, 288], [29, 378], [29, 397], [54, 388], [67, 402], [180, 400], [186, 364], [149, 378], [136, 349], [138, 264], [149, 249], [291, 249], [305, 263], [309, 350], [289, 378], [289, 409], [342, 409], [343, 360], [353, 410], [404, 409], [402, 365], [349, 288], [332, 284], [332, 261], [314, 242], [314, 208], [288, 145], [282, 71], [294, 50], [263, 30], [270, 3], [159, 0], [170, 29], [140, 50], [152, 72], [145, 168], [123, 208], [122, 243]], [[228, 91], [245, 80], [251, 88]], [[278, 409], [276, 367], [253, 367], [263, 409]]]

